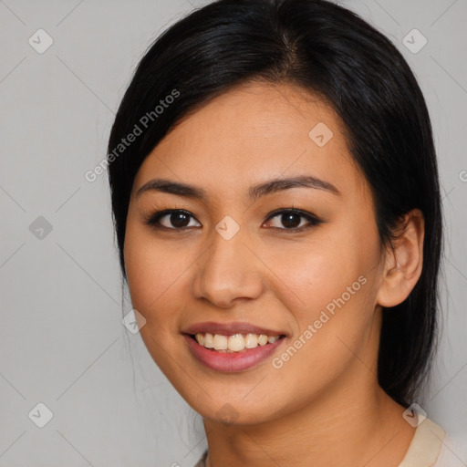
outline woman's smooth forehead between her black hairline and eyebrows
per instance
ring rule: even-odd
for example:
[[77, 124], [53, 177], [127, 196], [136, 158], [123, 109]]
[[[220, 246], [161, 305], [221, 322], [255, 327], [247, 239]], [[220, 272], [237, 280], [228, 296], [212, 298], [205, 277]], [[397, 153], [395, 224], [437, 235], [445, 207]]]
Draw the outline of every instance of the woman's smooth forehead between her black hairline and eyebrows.
[[225, 198], [255, 182], [303, 174], [351, 191], [364, 180], [342, 130], [336, 112], [304, 89], [237, 86], [178, 122], [143, 161], [134, 191], [166, 177]]

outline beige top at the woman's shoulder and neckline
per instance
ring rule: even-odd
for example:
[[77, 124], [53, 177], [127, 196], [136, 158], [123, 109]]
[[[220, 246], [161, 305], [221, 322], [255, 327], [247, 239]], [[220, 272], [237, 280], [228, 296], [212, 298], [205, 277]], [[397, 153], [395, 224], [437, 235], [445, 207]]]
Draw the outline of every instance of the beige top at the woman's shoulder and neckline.
[[[423, 420], [415, 429], [409, 450], [398, 467], [444, 467], [436, 462], [444, 434], [436, 423], [429, 419]], [[206, 467], [207, 455], [208, 451], [204, 451], [194, 467]]]

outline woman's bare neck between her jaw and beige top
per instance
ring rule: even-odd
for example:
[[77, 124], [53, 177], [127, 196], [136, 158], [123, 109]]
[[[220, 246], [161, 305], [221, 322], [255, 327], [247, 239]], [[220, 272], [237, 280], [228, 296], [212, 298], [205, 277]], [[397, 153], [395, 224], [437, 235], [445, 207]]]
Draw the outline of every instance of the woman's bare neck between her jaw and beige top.
[[286, 416], [254, 425], [204, 419], [207, 467], [399, 465], [415, 429], [402, 418], [404, 408], [379, 388], [375, 373], [357, 368]]

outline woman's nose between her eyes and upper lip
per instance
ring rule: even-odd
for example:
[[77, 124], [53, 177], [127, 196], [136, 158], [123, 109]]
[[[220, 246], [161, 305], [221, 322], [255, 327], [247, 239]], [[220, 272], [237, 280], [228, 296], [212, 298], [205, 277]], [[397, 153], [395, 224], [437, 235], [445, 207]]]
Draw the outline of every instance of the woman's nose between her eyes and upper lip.
[[245, 244], [244, 230], [241, 228], [230, 240], [215, 230], [211, 237], [211, 246], [196, 262], [193, 296], [220, 308], [230, 308], [238, 300], [261, 296], [264, 265], [251, 246]]

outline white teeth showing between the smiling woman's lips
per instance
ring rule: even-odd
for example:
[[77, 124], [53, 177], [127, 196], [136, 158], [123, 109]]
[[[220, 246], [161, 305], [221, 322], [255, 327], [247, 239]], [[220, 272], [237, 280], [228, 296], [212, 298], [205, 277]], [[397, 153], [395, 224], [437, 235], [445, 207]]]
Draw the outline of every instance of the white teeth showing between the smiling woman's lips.
[[197, 333], [190, 334], [203, 348], [208, 348], [214, 352], [221, 353], [239, 353], [246, 352], [252, 348], [265, 347], [268, 344], [273, 344], [276, 340], [285, 337], [284, 334], [278, 336], [266, 336], [265, 334], [233, 334], [232, 336], [224, 336], [222, 334]]

